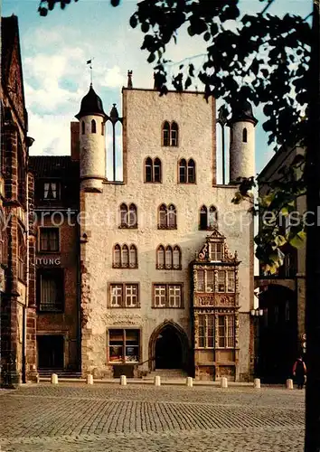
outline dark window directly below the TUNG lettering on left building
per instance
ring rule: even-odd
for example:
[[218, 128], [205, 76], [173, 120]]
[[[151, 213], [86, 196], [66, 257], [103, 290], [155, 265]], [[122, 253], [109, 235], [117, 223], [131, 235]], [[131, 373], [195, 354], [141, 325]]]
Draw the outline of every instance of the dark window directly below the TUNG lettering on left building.
[[38, 270], [37, 306], [41, 312], [61, 312], [64, 305], [64, 278], [61, 268]]

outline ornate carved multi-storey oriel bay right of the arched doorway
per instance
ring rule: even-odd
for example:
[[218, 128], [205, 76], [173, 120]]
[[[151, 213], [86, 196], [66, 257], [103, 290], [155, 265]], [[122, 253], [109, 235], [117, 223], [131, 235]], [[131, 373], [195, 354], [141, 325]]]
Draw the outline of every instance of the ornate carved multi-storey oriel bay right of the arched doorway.
[[195, 376], [238, 380], [239, 281], [237, 252], [219, 231], [208, 236], [193, 260]]

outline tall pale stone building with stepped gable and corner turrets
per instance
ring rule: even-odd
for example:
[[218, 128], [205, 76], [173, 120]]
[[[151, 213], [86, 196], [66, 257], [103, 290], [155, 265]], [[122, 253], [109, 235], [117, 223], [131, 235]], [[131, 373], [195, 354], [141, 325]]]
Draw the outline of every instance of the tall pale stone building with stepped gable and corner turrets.
[[[231, 153], [242, 152], [247, 165], [237, 170], [238, 160], [231, 158], [233, 177], [253, 175], [254, 165], [252, 133], [243, 129], [256, 120], [252, 111], [240, 108], [238, 113], [232, 124], [238, 130], [242, 123], [241, 143], [237, 132]], [[115, 107], [110, 115], [104, 112], [90, 87], [77, 118], [84, 213], [82, 374], [138, 376], [181, 368], [199, 379], [227, 375], [248, 381], [253, 360], [252, 221], [248, 205], [231, 203], [236, 185], [217, 184], [215, 100], [207, 103], [202, 93], [189, 91], [159, 97], [154, 89], [129, 87], [123, 89], [119, 118]], [[106, 122], [114, 120], [123, 126], [123, 181], [107, 180], [104, 140], [96, 137], [103, 137]], [[225, 238], [233, 256], [238, 253], [236, 264], [230, 264], [236, 269], [228, 323], [233, 339], [227, 340], [228, 328], [218, 320], [213, 346], [198, 342], [204, 353], [194, 353], [198, 298], [190, 266], [213, 232]], [[221, 269], [225, 258], [218, 255], [213, 265]], [[218, 280], [212, 284], [219, 286]]]

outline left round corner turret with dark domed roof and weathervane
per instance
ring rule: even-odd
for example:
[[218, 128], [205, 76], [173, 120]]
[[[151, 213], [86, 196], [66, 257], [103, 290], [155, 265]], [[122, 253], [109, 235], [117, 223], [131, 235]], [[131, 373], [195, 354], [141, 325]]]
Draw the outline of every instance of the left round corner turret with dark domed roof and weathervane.
[[86, 192], [102, 192], [106, 181], [105, 123], [107, 115], [103, 110], [92, 83], [88, 93], [81, 100], [80, 112], [75, 118], [80, 121], [80, 184]]

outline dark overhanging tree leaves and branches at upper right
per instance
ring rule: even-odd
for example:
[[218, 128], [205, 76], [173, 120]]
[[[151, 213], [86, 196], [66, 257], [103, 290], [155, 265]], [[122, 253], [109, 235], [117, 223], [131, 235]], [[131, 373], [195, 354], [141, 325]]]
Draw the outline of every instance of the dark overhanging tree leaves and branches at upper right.
[[[74, 0], [75, 2], [77, 0]], [[258, 0], [257, 0], [258, 1]], [[274, 0], [259, 0], [272, 3]], [[276, 0], [277, 1], [277, 0]], [[42, 0], [39, 12], [46, 15], [54, 5], [61, 8], [71, 0]], [[110, 0], [113, 6], [119, 0]], [[132, 28], [143, 34], [141, 49], [154, 65], [155, 83], [165, 95], [168, 82], [178, 91], [188, 89], [194, 80], [201, 80], [205, 98], [213, 96], [231, 109], [243, 100], [263, 106], [268, 145], [275, 151], [281, 146], [306, 146], [308, 126], [307, 71], [312, 46], [312, 33], [306, 20], [296, 14], [283, 18], [265, 13], [241, 14], [238, 0], [142, 0], [130, 17]], [[186, 28], [192, 38], [197, 35], [206, 42], [205, 61], [196, 68], [192, 55], [179, 65], [173, 79], [168, 80], [165, 52], [170, 42], [178, 41], [178, 31]], [[192, 62], [193, 61], [193, 62]], [[258, 149], [259, 152], [259, 149]], [[284, 170], [277, 181], [268, 183], [270, 193], [251, 206], [260, 215], [272, 212], [272, 224], [262, 222], [255, 238], [256, 256], [265, 270], [277, 271], [283, 263], [284, 246], [304, 243], [306, 228], [303, 214], [295, 224], [282, 231], [278, 224], [296, 211], [296, 198], [306, 193], [303, 172], [304, 158]], [[255, 174], [239, 181], [233, 202], [252, 200]], [[260, 181], [262, 182], [262, 181]]]

